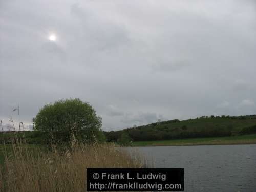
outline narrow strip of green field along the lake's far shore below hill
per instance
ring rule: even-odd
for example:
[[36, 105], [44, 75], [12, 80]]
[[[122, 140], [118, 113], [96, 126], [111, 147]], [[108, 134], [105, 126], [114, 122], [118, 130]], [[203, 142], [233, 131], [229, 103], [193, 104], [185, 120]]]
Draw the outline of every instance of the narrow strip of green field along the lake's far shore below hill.
[[193, 139], [173, 139], [160, 141], [136, 141], [132, 146], [183, 146], [183, 145], [224, 145], [224, 144], [256, 144], [256, 134], [230, 137], [208, 137]]

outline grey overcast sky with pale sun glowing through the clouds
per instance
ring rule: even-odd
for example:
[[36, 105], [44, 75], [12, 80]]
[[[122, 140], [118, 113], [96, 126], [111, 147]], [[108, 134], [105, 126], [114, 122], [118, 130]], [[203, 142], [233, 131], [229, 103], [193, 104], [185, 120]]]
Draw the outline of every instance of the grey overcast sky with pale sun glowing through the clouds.
[[256, 114], [255, 2], [1, 0], [0, 119], [70, 97], [103, 130]]

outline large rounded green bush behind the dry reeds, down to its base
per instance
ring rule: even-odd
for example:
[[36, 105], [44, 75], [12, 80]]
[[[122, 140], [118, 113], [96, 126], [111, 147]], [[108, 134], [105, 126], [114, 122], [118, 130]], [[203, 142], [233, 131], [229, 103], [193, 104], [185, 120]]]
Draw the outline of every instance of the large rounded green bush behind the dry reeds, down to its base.
[[[47, 132], [48, 141], [70, 141], [70, 137], [92, 141], [103, 139], [101, 118], [87, 102], [79, 99], [66, 99], [47, 104], [39, 110], [35, 118], [34, 130]], [[44, 134], [42, 134], [44, 135]]]

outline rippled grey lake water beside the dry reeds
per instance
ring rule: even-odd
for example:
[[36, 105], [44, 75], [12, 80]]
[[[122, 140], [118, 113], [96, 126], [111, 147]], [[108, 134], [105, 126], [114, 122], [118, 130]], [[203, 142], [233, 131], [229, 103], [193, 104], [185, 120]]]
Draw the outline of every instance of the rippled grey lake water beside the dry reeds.
[[127, 147], [154, 168], [184, 168], [184, 191], [256, 191], [256, 145]]

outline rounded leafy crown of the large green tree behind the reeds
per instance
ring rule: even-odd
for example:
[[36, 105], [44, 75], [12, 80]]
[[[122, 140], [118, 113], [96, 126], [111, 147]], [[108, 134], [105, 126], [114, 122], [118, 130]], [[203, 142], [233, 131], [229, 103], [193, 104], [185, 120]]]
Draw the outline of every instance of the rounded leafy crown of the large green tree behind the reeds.
[[101, 129], [101, 118], [80, 99], [59, 100], [45, 105], [33, 118], [34, 130], [44, 132], [91, 131]]

